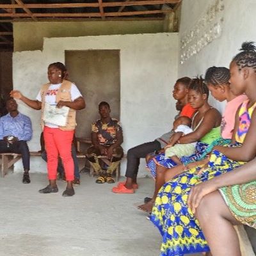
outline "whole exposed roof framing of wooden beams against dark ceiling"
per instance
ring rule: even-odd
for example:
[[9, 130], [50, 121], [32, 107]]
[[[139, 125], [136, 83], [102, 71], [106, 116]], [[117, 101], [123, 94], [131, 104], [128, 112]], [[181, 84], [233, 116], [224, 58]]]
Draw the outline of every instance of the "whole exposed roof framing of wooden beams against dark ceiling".
[[[74, 3], [76, 1], [79, 3]], [[13, 22], [164, 20], [164, 15], [175, 13], [181, 2], [182, 0], [0, 0], [0, 51], [12, 50]]]

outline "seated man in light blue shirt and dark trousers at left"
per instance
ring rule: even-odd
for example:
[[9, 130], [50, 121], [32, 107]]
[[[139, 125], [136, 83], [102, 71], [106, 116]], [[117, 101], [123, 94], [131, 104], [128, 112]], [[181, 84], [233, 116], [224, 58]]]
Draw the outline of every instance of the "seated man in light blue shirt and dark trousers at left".
[[32, 138], [31, 120], [17, 110], [14, 99], [6, 101], [8, 114], [0, 118], [0, 153], [17, 153], [22, 156], [24, 175], [22, 182], [29, 179], [29, 148], [26, 141]]

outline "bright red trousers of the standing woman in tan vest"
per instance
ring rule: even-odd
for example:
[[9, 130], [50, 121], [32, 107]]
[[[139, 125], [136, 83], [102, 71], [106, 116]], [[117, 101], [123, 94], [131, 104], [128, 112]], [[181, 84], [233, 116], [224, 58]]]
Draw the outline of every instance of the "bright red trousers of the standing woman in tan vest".
[[47, 153], [49, 180], [56, 180], [57, 178], [59, 155], [64, 166], [66, 180], [74, 180], [74, 161], [71, 154], [73, 137], [74, 131], [63, 131], [58, 128], [44, 127], [44, 141]]

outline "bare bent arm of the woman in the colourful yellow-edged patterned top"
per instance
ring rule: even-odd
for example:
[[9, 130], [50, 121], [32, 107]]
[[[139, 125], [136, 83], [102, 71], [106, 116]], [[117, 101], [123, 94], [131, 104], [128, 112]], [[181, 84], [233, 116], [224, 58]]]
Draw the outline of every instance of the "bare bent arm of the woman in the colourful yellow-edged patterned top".
[[229, 148], [216, 146], [214, 149], [234, 161], [248, 162], [252, 160], [256, 155], [256, 111], [254, 110], [252, 113], [251, 124], [241, 147]]

